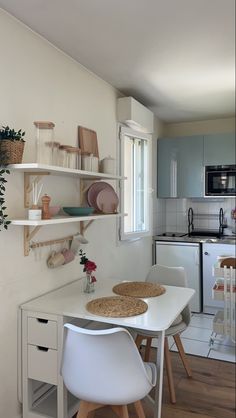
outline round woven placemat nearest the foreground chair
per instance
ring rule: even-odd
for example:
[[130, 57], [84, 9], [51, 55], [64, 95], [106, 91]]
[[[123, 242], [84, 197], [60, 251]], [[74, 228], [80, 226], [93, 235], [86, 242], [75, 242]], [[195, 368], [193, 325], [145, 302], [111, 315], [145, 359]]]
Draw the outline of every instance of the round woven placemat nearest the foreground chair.
[[108, 296], [91, 300], [86, 308], [96, 315], [122, 318], [140, 315], [146, 312], [148, 305], [143, 300], [127, 296]]

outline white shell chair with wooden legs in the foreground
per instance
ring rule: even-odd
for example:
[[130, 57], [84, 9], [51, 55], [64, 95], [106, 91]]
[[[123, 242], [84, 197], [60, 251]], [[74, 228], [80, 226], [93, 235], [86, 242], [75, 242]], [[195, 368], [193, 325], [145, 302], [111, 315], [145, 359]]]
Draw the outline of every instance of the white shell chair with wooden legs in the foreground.
[[124, 328], [64, 328], [61, 374], [66, 388], [81, 400], [76, 418], [87, 418], [104, 405], [129, 418], [130, 403], [145, 418], [140, 399], [155, 386], [156, 367], [142, 361], [130, 333]]

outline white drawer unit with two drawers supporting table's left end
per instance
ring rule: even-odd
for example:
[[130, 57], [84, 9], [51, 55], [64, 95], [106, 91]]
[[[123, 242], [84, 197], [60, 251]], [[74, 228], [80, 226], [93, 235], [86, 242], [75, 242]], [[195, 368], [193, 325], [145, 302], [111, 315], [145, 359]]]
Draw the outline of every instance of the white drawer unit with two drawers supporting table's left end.
[[80, 326], [90, 323], [40, 310], [20, 311], [18, 396], [23, 403], [22, 418], [72, 418], [78, 411], [79, 400], [67, 392], [60, 374], [63, 325], [74, 320]]

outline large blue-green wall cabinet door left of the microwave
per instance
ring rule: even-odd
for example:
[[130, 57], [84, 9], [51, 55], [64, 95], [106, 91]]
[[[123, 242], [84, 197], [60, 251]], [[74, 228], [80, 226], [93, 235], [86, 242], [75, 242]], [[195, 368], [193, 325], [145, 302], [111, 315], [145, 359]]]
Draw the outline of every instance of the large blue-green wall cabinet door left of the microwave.
[[203, 136], [158, 140], [158, 197], [203, 196]]

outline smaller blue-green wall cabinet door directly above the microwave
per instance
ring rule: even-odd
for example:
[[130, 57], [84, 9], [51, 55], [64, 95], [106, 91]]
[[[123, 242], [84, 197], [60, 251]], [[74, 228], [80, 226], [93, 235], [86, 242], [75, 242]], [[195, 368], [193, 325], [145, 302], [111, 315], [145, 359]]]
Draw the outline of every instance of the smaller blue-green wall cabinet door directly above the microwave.
[[235, 164], [235, 133], [204, 136], [204, 165]]

